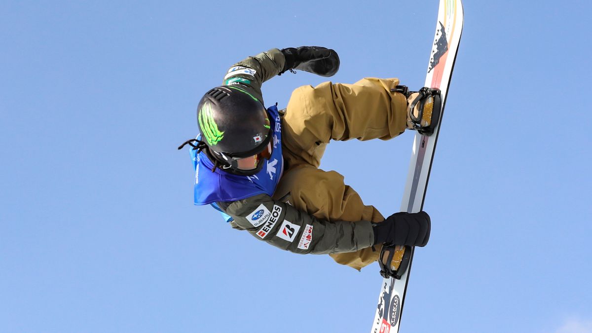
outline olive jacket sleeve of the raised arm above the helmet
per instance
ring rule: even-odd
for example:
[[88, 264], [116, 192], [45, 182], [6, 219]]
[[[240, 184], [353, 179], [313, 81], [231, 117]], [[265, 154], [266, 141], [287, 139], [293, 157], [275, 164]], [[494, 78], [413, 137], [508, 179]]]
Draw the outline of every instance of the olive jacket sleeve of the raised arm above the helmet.
[[[223, 85], [243, 88], [263, 104], [261, 85], [284, 69], [285, 57], [279, 49], [271, 49], [235, 63], [224, 76]], [[263, 104], [265, 105], [265, 104]]]

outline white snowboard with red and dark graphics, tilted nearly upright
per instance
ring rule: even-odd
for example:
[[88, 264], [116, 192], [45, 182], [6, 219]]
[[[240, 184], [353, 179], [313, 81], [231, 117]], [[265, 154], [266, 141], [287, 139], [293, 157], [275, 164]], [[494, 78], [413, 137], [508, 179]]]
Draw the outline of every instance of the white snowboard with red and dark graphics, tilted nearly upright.
[[[430, 177], [440, 124], [442, 124], [444, 115], [446, 95], [461, 40], [463, 20], [461, 0], [440, 0], [434, 44], [424, 84], [424, 87], [437, 88], [441, 91], [440, 121], [433, 135], [424, 136], [416, 133], [414, 137], [401, 212], [417, 213], [423, 209], [427, 181]], [[403, 254], [400, 253], [401, 251]], [[413, 260], [413, 248], [400, 247], [397, 249], [395, 257], [403, 259], [395, 277], [385, 277], [382, 280], [371, 333], [395, 333], [398, 332], [401, 323], [401, 313]]]

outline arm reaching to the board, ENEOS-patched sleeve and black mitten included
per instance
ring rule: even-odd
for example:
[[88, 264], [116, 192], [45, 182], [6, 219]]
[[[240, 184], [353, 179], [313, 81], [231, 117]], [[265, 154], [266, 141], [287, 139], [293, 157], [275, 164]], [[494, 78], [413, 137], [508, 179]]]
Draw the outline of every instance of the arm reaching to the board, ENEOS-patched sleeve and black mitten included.
[[329, 222], [266, 194], [217, 204], [233, 217], [233, 228], [298, 254], [353, 252], [381, 243], [426, 246], [430, 239], [431, 221], [426, 212], [395, 213], [379, 223]]

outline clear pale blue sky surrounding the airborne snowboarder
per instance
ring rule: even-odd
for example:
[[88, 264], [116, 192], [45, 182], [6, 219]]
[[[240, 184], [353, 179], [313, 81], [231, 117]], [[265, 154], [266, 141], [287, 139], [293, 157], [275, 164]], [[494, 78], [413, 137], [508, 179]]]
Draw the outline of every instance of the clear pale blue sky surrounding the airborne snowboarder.
[[[465, 1], [401, 332], [592, 332], [588, 1]], [[419, 88], [437, 0], [0, 4], [1, 332], [368, 332], [381, 284], [192, 204], [176, 147], [237, 60], [320, 45]], [[267, 104], [323, 78], [263, 87]], [[332, 143], [385, 215], [412, 133]], [[352, 156], [364, 163], [353, 164]]]

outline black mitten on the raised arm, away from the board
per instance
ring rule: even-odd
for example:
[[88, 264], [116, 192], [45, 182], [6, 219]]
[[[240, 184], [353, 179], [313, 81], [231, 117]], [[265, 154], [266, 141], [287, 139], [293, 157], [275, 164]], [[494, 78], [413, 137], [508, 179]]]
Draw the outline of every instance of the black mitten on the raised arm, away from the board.
[[288, 69], [300, 69], [320, 76], [333, 76], [339, 70], [337, 52], [320, 46], [288, 47], [282, 49], [286, 63], [281, 75]]

